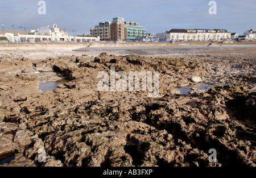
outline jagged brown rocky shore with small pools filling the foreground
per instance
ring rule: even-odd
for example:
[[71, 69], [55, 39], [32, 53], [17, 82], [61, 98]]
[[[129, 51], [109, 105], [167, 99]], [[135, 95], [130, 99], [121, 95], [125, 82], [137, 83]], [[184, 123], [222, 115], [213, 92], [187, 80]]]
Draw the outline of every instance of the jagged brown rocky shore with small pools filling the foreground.
[[[0, 66], [1, 166], [256, 166], [255, 55], [6, 52]], [[158, 97], [100, 92], [97, 74], [110, 67], [159, 71]], [[198, 82], [213, 87], [180, 93]]]

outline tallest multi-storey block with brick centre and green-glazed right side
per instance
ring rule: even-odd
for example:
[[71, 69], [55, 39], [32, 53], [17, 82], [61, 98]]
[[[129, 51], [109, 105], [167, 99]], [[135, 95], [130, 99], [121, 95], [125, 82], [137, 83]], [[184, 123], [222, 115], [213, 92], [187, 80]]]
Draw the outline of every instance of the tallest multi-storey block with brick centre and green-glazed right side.
[[125, 22], [124, 18], [113, 18], [112, 22], [100, 22], [90, 28], [90, 36], [100, 36], [102, 41], [125, 41], [146, 38], [147, 32], [139, 23]]

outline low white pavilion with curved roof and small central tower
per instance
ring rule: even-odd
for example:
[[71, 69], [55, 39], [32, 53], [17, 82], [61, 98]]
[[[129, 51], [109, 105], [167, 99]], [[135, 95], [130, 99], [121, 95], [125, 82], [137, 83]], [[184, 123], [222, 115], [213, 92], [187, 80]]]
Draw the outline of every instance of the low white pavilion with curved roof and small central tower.
[[[3, 36], [0, 34], [0, 36]], [[91, 36], [69, 36], [68, 32], [57, 28], [54, 23], [52, 27], [44, 26], [36, 30], [5, 31], [5, 37], [9, 42], [99, 42], [99, 37]]]

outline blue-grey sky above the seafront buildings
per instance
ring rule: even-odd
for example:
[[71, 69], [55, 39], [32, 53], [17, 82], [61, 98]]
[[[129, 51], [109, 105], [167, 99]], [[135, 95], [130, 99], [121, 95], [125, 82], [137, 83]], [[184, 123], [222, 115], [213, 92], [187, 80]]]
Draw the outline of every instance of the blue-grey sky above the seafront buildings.
[[[1, 0], [0, 24], [5, 30], [27, 30], [56, 23], [73, 35], [89, 34], [99, 22], [115, 17], [137, 22], [148, 33], [172, 28], [226, 29], [242, 35], [256, 31], [256, 0], [216, 0], [217, 14], [209, 14], [210, 0], [44, 0], [46, 14], [39, 14], [39, 0]], [[23, 29], [24, 30], [24, 29]], [[74, 34], [75, 35], [75, 34]]]

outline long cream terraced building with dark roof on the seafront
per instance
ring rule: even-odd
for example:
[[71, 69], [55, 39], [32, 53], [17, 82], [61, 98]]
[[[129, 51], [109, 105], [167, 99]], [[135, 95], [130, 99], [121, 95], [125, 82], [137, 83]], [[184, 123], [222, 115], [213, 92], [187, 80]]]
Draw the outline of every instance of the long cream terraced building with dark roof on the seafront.
[[171, 40], [189, 42], [209, 42], [231, 39], [231, 33], [222, 29], [172, 29], [164, 33], [156, 34], [162, 42]]

